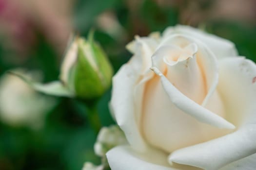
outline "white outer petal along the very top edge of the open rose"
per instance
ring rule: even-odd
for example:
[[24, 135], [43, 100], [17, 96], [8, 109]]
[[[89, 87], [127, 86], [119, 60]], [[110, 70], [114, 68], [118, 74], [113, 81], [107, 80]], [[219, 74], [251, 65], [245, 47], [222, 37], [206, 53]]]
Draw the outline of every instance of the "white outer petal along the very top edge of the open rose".
[[177, 25], [176, 27], [169, 27], [164, 31], [163, 36], [166, 37], [167, 35], [175, 33], [187, 34], [193, 37], [197, 37], [197, 39], [207, 44], [207, 46], [211, 49], [211, 51], [214, 52], [217, 58], [237, 55], [235, 45], [231, 41], [220, 38], [213, 34], [207, 34], [190, 26]]

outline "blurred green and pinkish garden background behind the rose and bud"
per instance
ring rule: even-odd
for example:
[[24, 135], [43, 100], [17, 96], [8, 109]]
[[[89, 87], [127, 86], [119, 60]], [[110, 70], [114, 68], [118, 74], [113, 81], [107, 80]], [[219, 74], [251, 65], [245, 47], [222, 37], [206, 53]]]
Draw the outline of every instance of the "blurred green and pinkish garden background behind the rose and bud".
[[[81, 170], [85, 161], [100, 163], [84, 105], [36, 93], [7, 70], [57, 80], [70, 34], [86, 37], [94, 28], [116, 72], [131, 57], [125, 45], [134, 35], [176, 24], [229, 39], [256, 61], [256, 0], [0, 0], [0, 170]], [[114, 124], [110, 94], [98, 102], [103, 126]]]

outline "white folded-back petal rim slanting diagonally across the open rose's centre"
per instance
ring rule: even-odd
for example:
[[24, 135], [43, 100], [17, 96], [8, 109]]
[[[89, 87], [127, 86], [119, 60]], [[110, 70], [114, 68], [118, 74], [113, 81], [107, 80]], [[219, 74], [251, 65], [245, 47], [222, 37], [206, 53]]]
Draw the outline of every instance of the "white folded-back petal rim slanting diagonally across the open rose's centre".
[[200, 122], [216, 126], [218, 128], [235, 128], [235, 126], [227, 120], [216, 115], [215, 113], [212, 113], [208, 109], [190, 100], [184, 94], [179, 92], [179, 90], [168, 81], [168, 79], [158, 70], [158, 68], [152, 68], [152, 70], [155, 71], [158, 76], [160, 76], [163, 88], [168, 94], [171, 102], [174, 103], [177, 108], [182, 110], [184, 113], [187, 113]]

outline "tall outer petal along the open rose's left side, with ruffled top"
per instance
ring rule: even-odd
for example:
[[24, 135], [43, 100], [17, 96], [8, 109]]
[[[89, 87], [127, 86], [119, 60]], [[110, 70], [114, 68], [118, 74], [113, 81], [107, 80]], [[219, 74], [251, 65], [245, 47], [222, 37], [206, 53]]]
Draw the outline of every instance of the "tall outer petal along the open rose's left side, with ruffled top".
[[[153, 37], [136, 37], [128, 45], [134, 53], [132, 59], [118, 70], [113, 78], [113, 92], [110, 107], [118, 125], [124, 131], [129, 143], [138, 150], [145, 149], [145, 142], [139, 132], [141, 99], [145, 82], [152, 72], [151, 55], [157, 47]], [[144, 76], [144, 77], [143, 77]], [[141, 79], [141, 77], [143, 77]]]

